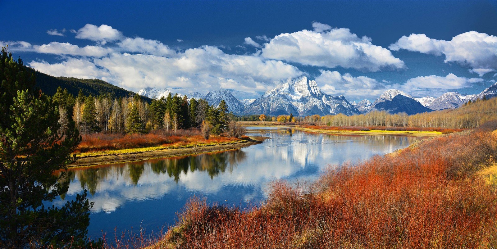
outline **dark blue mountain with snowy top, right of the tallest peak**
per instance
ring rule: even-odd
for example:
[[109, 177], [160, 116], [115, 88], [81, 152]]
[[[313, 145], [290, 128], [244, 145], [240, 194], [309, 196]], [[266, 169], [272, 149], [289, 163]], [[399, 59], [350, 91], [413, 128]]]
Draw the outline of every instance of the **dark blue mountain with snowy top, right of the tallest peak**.
[[411, 95], [397, 89], [386, 90], [380, 98], [374, 101], [370, 111], [373, 110], [384, 110], [391, 114], [405, 112], [408, 115], [432, 111], [432, 109], [423, 106]]

